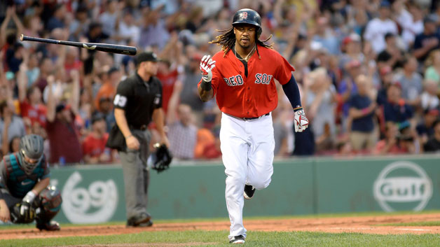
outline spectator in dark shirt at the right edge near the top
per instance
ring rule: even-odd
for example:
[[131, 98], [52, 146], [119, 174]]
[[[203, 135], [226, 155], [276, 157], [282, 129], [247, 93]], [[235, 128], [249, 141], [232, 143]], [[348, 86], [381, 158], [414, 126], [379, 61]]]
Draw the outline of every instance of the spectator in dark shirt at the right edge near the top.
[[427, 16], [423, 20], [423, 23], [423, 32], [415, 36], [413, 47], [413, 54], [419, 62], [424, 62], [429, 52], [440, 48], [440, 35], [436, 30], [435, 20]]

